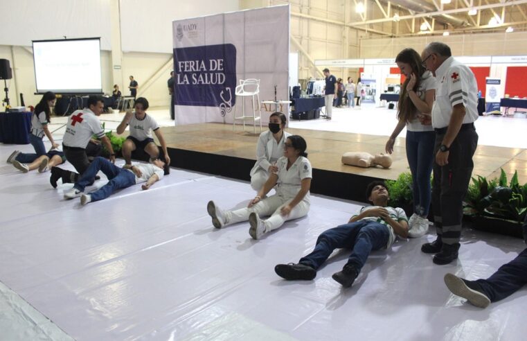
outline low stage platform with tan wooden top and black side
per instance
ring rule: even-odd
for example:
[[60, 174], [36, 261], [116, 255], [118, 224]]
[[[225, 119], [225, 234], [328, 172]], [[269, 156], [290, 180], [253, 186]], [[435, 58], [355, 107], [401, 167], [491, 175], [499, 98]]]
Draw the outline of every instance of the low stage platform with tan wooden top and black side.
[[[247, 132], [241, 125], [236, 125], [233, 131], [233, 125], [222, 123], [179, 125], [161, 130], [170, 148], [172, 166], [250, 180], [259, 135], [259, 130], [253, 134], [252, 126]], [[364, 201], [364, 189], [371, 180], [395, 180], [400, 173], [409, 172], [404, 137], [395, 143], [391, 168], [360, 168], [343, 165], [343, 153], [384, 152], [387, 137], [295, 128], [288, 128], [287, 132], [299, 134], [307, 141], [308, 158], [314, 168], [313, 193]], [[478, 146], [473, 175], [499, 177], [500, 168], [509, 178], [518, 171], [519, 182], [526, 183], [527, 150]]]

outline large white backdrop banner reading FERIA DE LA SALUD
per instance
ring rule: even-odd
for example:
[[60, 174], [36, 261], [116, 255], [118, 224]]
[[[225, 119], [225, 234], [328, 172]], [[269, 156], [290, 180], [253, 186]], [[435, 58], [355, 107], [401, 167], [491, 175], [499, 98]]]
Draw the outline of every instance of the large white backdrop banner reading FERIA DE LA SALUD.
[[[172, 29], [177, 124], [232, 123], [244, 98], [252, 115], [251, 96], [235, 96], [249, 78], [260, 80], [260, 103], [289, 100], [289, 5], [177, 20]], [[260, 108], [267, 125], [275, 107]]]

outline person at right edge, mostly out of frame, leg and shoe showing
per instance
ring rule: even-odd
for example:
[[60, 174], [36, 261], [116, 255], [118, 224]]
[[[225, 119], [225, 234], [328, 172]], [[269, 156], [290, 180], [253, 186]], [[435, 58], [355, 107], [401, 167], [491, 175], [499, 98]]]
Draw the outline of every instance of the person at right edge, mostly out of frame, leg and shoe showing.
[[[523, 229], [527, 244], [527, 216]], [[501, 265], [488, 279], [469, 281], [455, 274], [445, 274], [445, 284], [454, 295], [467, 299], [474, 306], [486, 308], [490, 302], [504, 299], [527, 284], [527, 249], [509, 263]]]

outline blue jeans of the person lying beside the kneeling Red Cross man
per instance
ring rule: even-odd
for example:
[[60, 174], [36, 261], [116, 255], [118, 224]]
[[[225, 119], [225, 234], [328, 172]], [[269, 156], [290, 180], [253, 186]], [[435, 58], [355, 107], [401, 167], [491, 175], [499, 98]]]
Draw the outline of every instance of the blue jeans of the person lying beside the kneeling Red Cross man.
[[102, 171], [108, 177], [109, 182], [95, 192], [89, 193], [91, 201], [98, 201], [108, 198], [111, 193], [118, 189], [125, 189], [136, 184], [136, 176], [131, 171], [119, 168], [103, 157], [96, 157], [84, 173], [75, 182], [75, 189], [84, 191], [86, 186], [93, 184], [98, 171]]

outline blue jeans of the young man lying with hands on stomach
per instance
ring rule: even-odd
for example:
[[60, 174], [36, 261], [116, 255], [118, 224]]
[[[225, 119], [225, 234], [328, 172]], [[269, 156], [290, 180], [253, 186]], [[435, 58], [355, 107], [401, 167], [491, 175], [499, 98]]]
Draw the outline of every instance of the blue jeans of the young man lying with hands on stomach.
[[324, 231], [316, 240], [313, 252], [302, 257], [298, 263], [309, 265], [315, 270], [325, 262], [333, 250], [348, 248], [352, 252], [348, 264], [357, 274], [366, 263], [371, 251], [386, 247], [390, 232], [386, 225], [372, 220], [359, 220]]

